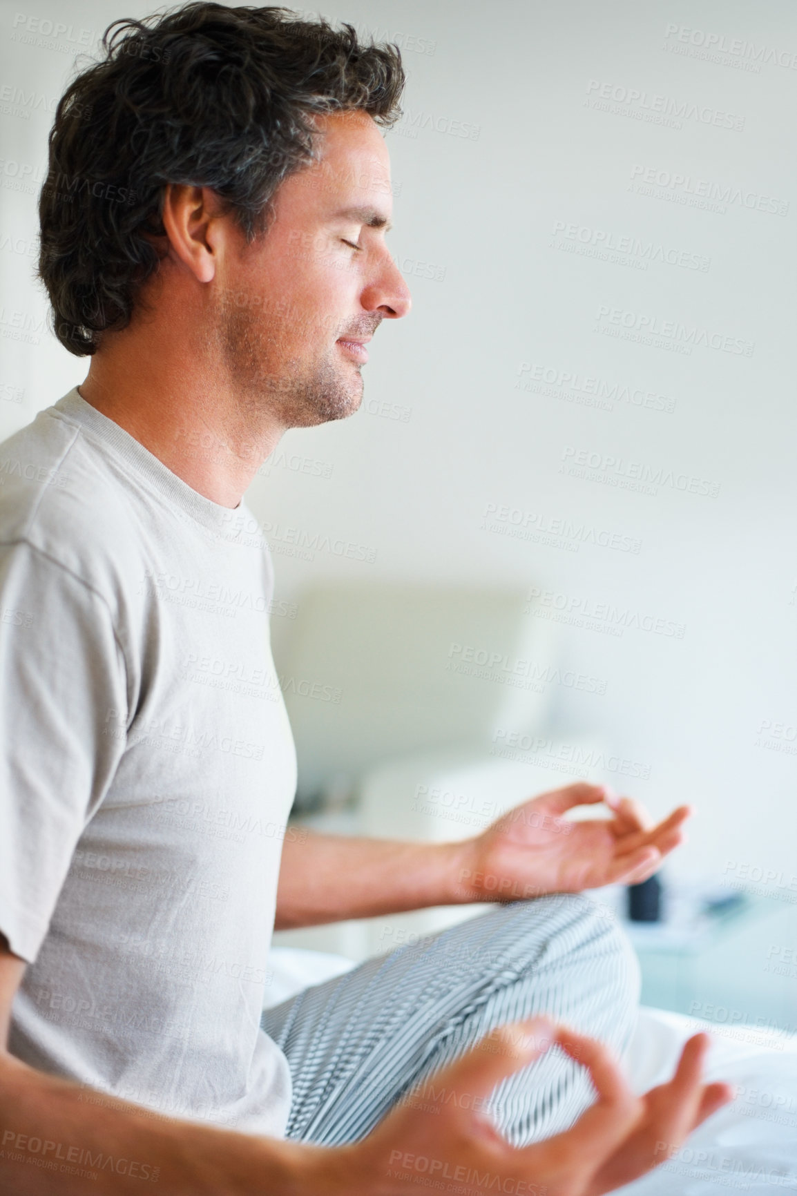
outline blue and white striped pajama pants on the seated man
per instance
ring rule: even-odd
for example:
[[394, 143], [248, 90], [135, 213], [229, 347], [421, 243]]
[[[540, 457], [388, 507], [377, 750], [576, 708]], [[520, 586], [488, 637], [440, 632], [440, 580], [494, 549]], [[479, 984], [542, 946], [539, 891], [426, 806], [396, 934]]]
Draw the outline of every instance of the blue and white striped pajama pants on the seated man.
[[[561, 893], [498, 905], [263, 1013], [291, 1068], [286, 1137], [358, 1141], [493, 1026], [536, 1013], [622, 1056], [638, 1001], [637, 959], [606, 907]], [[525, 1146], [566, 1129], [592, 1099], [584, 1069], [553, 1048], [503, 1080], [489, 1109]]]

